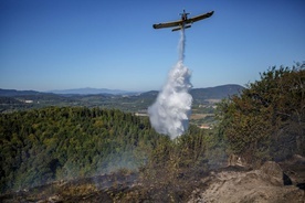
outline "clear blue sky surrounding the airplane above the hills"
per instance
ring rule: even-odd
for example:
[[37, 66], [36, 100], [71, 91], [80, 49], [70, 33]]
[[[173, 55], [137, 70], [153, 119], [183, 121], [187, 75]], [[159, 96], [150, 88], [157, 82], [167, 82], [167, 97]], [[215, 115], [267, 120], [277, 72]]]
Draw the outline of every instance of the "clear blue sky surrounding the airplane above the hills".
[[152, 23], [182, 9], [214, 10], [186, 31], [194, 88], [305, 61], [304, 0], [0, 0], [0, 88], [160, 89], [180, 34]]

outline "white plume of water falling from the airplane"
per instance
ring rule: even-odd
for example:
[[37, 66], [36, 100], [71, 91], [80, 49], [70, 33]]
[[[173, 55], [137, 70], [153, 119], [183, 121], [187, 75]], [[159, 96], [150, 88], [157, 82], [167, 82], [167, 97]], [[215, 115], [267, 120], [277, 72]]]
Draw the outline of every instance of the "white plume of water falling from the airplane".
[[181, 136], [188, 128], [192, 97], [189, 94], [190, 71], [183, 65], [185, 32], [179, 42], [179, 60], [168, 74], [167, 82], [155, 104], [148, 107], [151, 126], [159, 133], [169, 135], [171, 139]]

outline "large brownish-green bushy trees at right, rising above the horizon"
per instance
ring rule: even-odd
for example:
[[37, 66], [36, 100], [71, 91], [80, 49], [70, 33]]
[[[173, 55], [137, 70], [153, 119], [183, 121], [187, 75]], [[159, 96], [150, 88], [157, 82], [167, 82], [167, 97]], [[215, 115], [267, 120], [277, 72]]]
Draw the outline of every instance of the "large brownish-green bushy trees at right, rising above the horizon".
[[272, 67], [240, 95], [222, 100], [218, 118], [232, 153], [252, 164], [305, 154], [304, 67]]

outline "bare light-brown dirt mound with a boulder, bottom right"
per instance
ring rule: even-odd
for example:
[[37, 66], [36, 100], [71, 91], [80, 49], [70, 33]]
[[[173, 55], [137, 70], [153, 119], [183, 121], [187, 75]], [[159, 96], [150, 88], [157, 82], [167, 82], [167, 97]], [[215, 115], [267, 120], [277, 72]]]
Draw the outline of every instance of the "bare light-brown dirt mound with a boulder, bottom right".
[[201, 181], [206, 189], [193, 191], [192, 202], [227, 203], [304, 203], [305, 193], [296, 185], [284, 185], [277, 163], [267, 162], [260, 170], [211, 172]]

